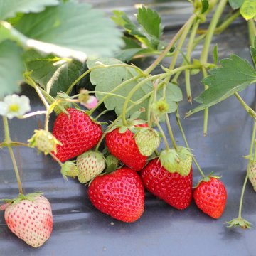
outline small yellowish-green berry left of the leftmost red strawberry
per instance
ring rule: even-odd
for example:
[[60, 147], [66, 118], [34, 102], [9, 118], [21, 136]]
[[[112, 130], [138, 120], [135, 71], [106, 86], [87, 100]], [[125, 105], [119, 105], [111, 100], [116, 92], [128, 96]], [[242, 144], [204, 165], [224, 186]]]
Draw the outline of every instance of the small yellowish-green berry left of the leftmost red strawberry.
[[34, 132], [33, 137], [28, 139], [29, 146], [36, 146], [36, 148], [44, 154], [49, 154], [50, 152], [56, 153], [57, 145], [61, 145], [61, 143], [53, 134], [43, 129], [35, 130]]

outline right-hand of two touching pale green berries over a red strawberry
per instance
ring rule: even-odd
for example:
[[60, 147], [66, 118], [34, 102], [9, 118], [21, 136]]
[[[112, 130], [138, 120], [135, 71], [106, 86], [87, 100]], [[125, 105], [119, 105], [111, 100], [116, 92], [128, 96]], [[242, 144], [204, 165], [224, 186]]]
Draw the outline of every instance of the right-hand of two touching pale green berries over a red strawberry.
[[177, 152], [180, 162], [178, 163], [178, 169], [176, 171], [182, 176], [187, 176], [191, 171], [192, 154], [183, 146], [178, 147]]

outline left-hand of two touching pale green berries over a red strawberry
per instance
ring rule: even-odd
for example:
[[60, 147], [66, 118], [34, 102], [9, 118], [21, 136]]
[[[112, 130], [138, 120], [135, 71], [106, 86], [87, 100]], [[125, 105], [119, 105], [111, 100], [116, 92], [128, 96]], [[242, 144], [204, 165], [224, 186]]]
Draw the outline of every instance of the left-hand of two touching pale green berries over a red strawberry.
[[159, 159], [161, 161], [161, 166], [164, 166], [166, 171], [169, 171], [170, 173], [177, 171], [180, 159], [175, 149], [165, 149], [161, 151]]

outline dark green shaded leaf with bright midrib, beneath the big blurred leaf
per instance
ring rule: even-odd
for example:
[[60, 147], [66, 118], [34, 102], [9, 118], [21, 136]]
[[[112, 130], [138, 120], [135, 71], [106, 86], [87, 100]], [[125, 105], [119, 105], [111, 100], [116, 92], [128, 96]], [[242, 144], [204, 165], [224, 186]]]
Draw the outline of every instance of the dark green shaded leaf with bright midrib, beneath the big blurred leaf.
[[61, 59], [53, 55], [42, 56], [35, 50], [26, 53], [26, 68], [31, 77], [50, 95], [65, 92], [74, 82], [82, 68], [82, 63], [72, 59]]

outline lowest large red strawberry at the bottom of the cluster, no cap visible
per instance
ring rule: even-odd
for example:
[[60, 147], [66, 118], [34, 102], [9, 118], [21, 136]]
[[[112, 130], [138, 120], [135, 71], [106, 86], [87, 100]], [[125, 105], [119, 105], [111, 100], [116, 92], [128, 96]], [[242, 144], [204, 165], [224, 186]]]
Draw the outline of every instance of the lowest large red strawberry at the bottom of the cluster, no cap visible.
[[144, 211], [144, 187], [139, 175], [127, 167], [97, 176], [88, 189], [92, 204], [112, 218], [132, 223]]

